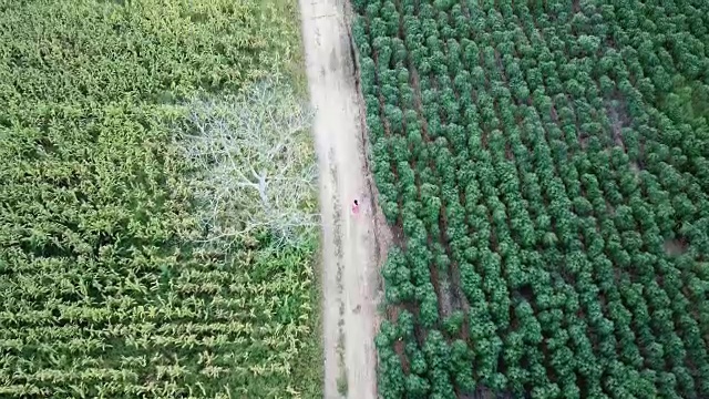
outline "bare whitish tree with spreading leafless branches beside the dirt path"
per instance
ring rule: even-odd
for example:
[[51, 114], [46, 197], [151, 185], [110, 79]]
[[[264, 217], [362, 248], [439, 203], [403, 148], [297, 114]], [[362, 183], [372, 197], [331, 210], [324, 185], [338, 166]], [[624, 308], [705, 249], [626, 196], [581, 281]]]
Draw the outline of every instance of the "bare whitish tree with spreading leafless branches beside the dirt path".
[[208, 241], [268, 229], [277, 244], [297, 244], [319, 225], [312, 112], [289, 84], [273, 78], [187, 106], [177, 144], [195, 167], [191, 184]]

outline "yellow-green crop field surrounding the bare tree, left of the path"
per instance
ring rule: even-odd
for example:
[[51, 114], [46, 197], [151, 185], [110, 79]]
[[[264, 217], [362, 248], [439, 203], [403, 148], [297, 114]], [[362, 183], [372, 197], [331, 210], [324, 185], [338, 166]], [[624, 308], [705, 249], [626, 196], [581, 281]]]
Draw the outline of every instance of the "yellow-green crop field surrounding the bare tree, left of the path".
[[238, 206], [240, 235], [207, 232], [214, 160], [183, 140], [276, 71], [302, 95], [298, 23], [295, 1], [0, 0], [0, 398], [321, 397], [317, 236]]

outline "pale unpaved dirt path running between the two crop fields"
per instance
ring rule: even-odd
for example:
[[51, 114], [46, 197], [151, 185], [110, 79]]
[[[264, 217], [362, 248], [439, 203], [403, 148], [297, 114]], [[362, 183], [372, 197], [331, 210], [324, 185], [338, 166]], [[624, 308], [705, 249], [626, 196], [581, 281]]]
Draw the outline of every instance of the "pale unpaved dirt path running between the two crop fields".
[[[377, 398], [377, 238], [345, 0], [299, 1], [317, 111], [325, 398]], [[361, 203], [358, 215], [350, 211], [354, 198]]]

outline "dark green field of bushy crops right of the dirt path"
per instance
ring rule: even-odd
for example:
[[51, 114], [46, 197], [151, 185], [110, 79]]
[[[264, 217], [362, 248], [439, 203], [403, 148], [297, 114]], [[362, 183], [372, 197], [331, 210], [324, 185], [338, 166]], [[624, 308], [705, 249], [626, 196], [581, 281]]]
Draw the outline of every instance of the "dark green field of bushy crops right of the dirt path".
[[709, 397], [709, 3], [353, 6], [382, 397]]

